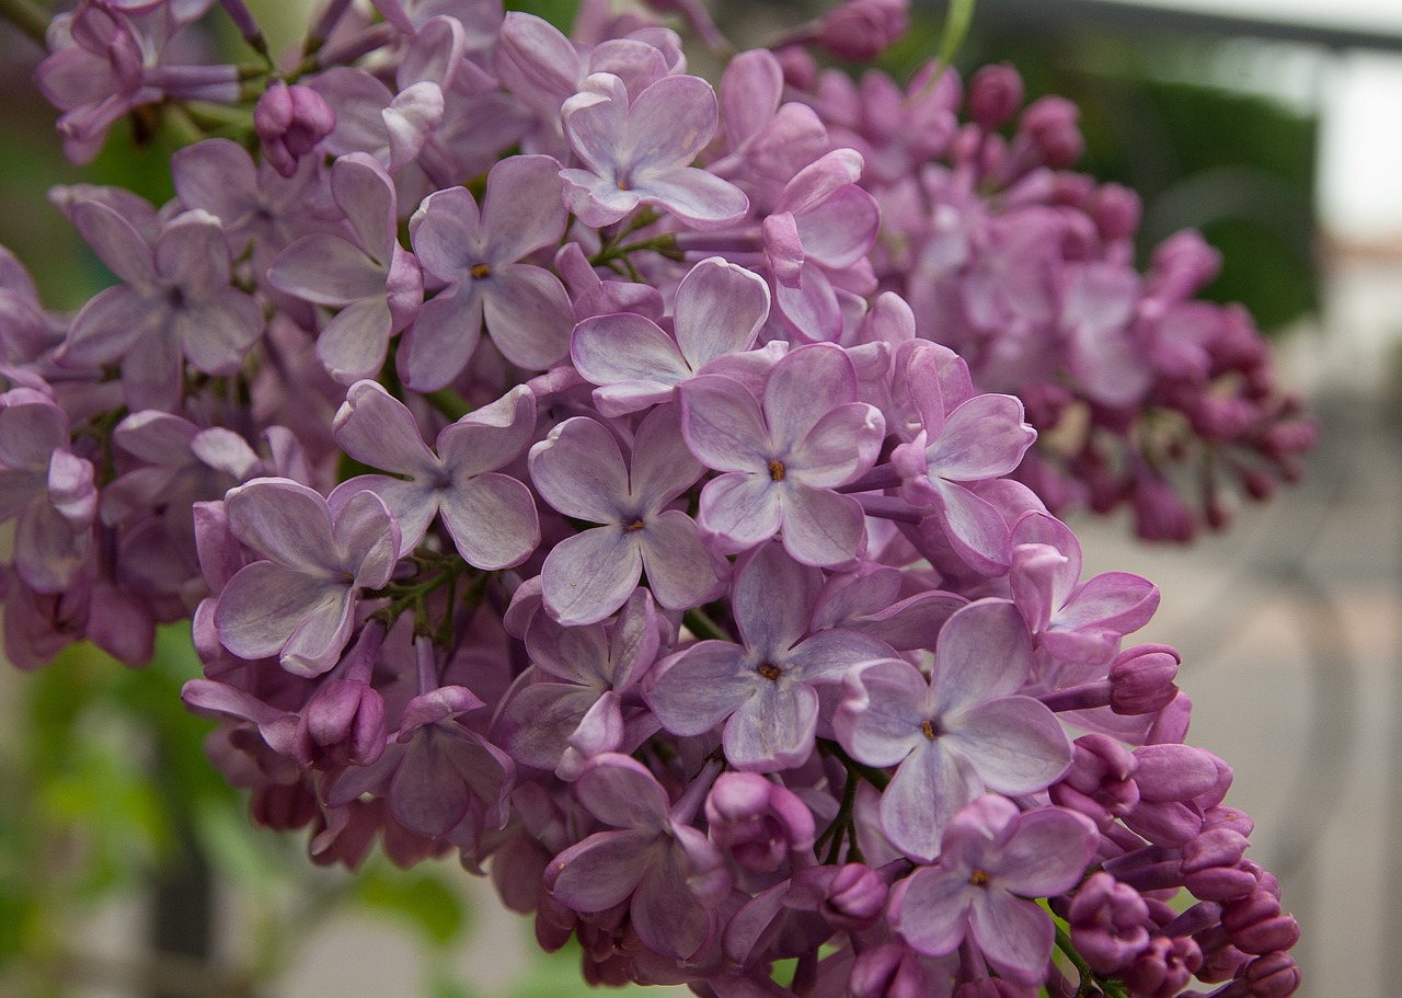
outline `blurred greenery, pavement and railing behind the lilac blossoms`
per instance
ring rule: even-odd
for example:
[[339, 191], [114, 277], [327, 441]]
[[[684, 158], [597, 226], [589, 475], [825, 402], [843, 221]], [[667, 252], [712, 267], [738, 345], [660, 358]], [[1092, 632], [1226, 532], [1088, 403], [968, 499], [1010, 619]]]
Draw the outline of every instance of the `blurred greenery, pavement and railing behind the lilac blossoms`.
[[[572, 8], [508, 6], [562, 24]], [[753, 42], [826, 6], [712, 10]], [[897, 73], [939, 38], [944, 3], [914, 7]], [[255, 8], [269, 36], [296, 36], [290, 4]], [[93, 167], [67, 165], [29, 78], [41, 55], [0, 24], [0, 244], [48, 307], [76, 308], [108, 278], [46, 189], [119, 184], [160, 203], [171, 144], [133, 150], [123, 125]], [[979, 0], [956, 64], [1002, 60], [1029, 100], [1081, 105], [1080, 168], [1144, 196], [1143, 251], [1193, 226], [1224, 252], [1210, 296], [1252, 310], [1321, 418], [1304, 481], [1224, 534], [1151, 548], [1124, 521], [1073, 526], [1087, 575], [1137, 572], [1164, 593], [1136, 641], [1183, 652], [1190, 741], [1234, 765], [1228, 802], [1258, 821], [1251, 856], [1302, 925], [1301, 994], [1388, 995], [1402, 948], [1402, 4]], [[32, 676], [0, 669], [0, 995], [586, 991], [573, 955], [540, 955], [530, 922], [453, 863], [372, 861], [352, 877], [252, 828], [205, 763], [209, 725], [179, 704], [196, 671], [179, 628], [140, 671], [88, 649]]]

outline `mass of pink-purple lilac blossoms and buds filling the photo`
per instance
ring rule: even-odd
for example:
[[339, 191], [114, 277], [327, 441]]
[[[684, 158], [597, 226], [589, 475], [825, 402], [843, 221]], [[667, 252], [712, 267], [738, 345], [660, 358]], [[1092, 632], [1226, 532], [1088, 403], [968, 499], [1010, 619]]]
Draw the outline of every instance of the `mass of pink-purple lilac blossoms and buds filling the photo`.
[[[987, 391], [1047, 408], [1070, 350], [1133, 422], [1224, 376], [1165, 374], [1193, 252], [1124, 287], [1131, 206], [1050, 172], [1060, 105], [1004, 149], [1002, 70], [963, 130], [951, 70], [791, 86], [801, 46], [899, 35], [890, 0], [732, 57], [719, 95], [596, 3], [566, 38], [494, 0], [332, 1], [293, 70], [167, 66], [206, 6], [81, 0], [39, 69], [76, 158], [226, 70], [199, 100], [252, 115], [174, 157], [160, 209], [55, 192], [119, 278], [76, 315], [0, 255], [14, 662], [87, 636], [139, 663], [191, 618], [184, 697], [257, 821], [320, 863], [456, 854], [590, 981], [1295, 990], [1176, 653], [1123, 648], [1158, 590], [1082, 579], [1015, 478], [1023, 402]], [[1091, 203], [1119, 221], [1078, 228]], [[1230, 353], [1203, 308], [1192, 349]], [[1039, 343], [1033, 313], [1066, 335], [1018, 381], [1033, 353], [998, 343]]]

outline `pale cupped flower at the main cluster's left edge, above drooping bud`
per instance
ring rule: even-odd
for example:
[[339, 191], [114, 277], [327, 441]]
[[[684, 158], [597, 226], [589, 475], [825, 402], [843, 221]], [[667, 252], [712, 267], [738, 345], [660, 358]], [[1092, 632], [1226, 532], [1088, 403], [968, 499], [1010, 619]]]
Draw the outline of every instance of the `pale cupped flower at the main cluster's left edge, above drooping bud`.
[[243, 659], [279, 656], [299, 676], [331, 669], [355, 622], [358, 592], [390, 580], [400, 527], [373, 493], [332, 509], [304, 485], [257, 478], [226, 498], [229, 528], [261, 555], [219, 596], [219, 639]]

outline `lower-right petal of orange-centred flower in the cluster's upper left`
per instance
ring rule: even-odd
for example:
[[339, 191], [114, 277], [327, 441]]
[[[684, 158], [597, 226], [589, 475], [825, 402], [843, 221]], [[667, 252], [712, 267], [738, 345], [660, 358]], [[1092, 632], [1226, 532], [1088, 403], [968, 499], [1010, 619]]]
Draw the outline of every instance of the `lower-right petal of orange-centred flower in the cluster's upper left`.
[[482, 287], [486, 331], [496, 349], [520, 367], [545, 370], [569, 352], [575, 327], [569, 293], [550, 271], [508, 264]]

